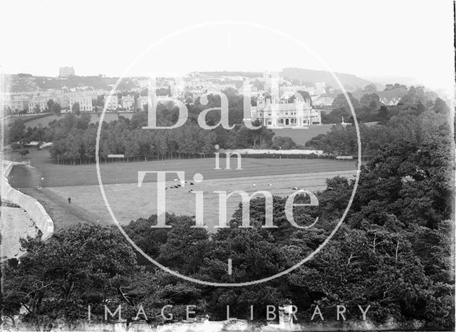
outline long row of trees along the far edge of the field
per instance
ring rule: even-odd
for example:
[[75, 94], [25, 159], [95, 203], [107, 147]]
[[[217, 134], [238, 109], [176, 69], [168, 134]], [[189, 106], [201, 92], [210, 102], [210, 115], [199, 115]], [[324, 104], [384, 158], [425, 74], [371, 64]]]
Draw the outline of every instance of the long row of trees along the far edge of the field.
[[[138, 113], [132, 120], [120, 118], [103, 123], [100, 133], [100, 160], [107, 162], [108, 155], [123, 155], [125, 160], [171, 159], [181, 157], [207, 157], [216, 145], [222, 148], [295, 148], [290, 138], [276, 137], [266, 128], [250, 130], [236, 125], [232, 130], [221, 127], [203, 130], [187, 121], [170, 130], [145, 130], [145, 114]], [[66, 115], [48, 128], [53, 145], [51, 159], [58, 164], [82, 164], [95, 161], [95, 144], [98, 124], [91, 124]], [[45, 130], [46, 131], [46, 130]], [[45, 134], [46, 137], [46, 134]]]

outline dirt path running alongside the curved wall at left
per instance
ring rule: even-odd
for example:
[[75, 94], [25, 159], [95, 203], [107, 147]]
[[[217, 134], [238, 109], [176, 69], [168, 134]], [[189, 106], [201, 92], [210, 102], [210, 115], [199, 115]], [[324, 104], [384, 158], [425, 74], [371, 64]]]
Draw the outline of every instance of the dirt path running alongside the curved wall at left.
[[56, 231], [81, 222], [94, 224], [99, 222], [83, 207], [69, 204], [66, 198], [58, 196], [46, 187], [39, 187], [41, 174], [35, 167], [14, 166], [9, 176], [9, 182], [12, 187], [35, 198], [43, 205], [53, 220]]

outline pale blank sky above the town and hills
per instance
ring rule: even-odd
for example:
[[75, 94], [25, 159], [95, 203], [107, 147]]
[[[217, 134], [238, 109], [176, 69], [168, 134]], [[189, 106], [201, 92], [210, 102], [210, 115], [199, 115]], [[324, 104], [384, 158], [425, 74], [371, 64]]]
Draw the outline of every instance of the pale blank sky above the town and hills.
[[[296, 66], [409, 76], [432, 88], [454, 81], [450, 0], [2, 0], [0, 13], [2, 73], [57, 76], [59, 66], [73, 66], [81, 76], [135, 76]], [[212, 24], [194, 27], [204, 22]]]

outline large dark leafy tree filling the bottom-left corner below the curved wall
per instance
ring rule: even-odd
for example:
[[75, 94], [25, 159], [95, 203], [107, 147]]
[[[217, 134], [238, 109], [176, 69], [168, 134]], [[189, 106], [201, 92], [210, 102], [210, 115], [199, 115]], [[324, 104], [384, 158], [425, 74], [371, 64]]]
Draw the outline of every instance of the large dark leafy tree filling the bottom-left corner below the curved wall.
[[18, 314], [24, 307], [24, 321], [37, 328], [49, 328], [57, 317], [71, 327], [86, 319], [89, 304], [94, 316], [103, 315], [116, 285], [138, 271], [133, 249], [112, 227], [78, 225], [22, 245], [21, 264], [4, 270], [4, 308]]

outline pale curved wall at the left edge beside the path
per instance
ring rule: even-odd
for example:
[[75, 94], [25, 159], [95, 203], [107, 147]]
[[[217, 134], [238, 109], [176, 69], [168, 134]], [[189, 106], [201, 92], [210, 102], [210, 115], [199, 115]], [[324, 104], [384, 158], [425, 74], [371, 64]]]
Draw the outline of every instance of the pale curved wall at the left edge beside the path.
[[4, 160], [4, 165], [2, 166], [1, 199], [6, 199], [26, 210], [28, 216], [35, 222], [36, 227], [43, 233], [41, 239], [48, 239], [54, 232], [54, 223], [51, 217], [36, 199], [19, 192], [19, 190], [15, 190], [9, 185], [8, 175], [14, 166], [14, 162]]

